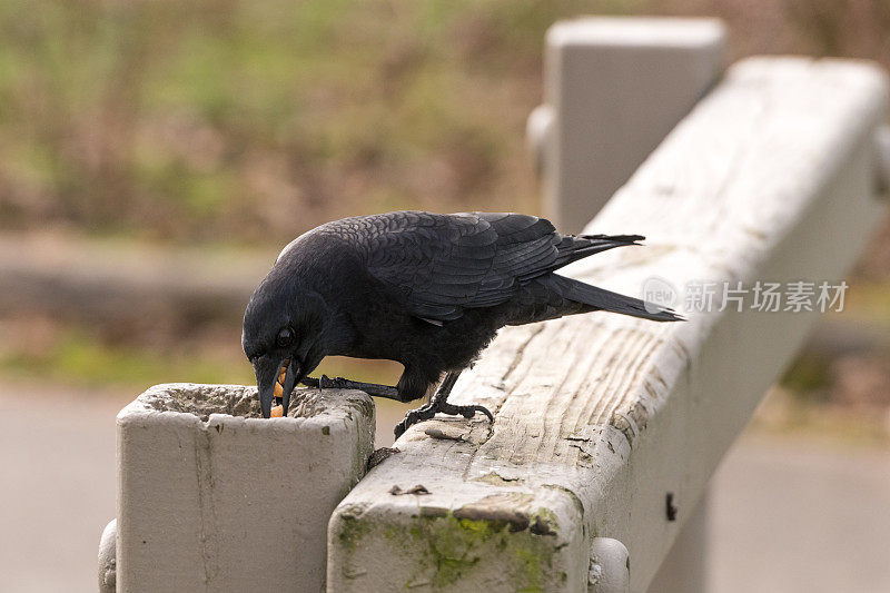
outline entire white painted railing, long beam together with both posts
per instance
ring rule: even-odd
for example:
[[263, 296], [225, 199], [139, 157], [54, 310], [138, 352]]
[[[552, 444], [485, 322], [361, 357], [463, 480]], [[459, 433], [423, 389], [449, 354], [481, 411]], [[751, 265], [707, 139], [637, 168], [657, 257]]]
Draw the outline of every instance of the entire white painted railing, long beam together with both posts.
[[[695, 283], [842, 278], [887, 206], [877, 199], [890, 185], [880, 148], [890, 144], [881, 71], [864, 62], [755, 58], [718, 83], [723, 31], [711, 20], [586, 19], [555, 26], [547, 42], [548, 103], [531, 118], [530, 132], [550, 215], [577, 230], [623, 185], [586, 229], [647, 237], [646, 247], [576, 264], [573, 276], [627, 294], [644, 285], [649, 296], [673, 291], [680, 309], [683, 289]], [[453, 394], [496, 411], [493, 425], [437, 418], [399, 438], [399, 453], [330, 517], [327, 590], [701, 591], [708, 481], [818, 315], [748, 304], [721, 312], [720, 298], [714, 303], [712, 312], [688, 312], [682, 324], [592, 314], [502, 332]], [[310, 463], [294, 462], [277, 480], [270, 465], [257, 473], [244, 461], [270, 447], [280, 458], [276, 429], [286, 428], [296, 459], [340, 458], [340, 483], [357, 478], [372, 417], [349, 404], [355, 395], [330, 397], [339, 397], [329, 402], [337, 438], [315, 434], [322, 424], [334, 431], [330, 418], [283, 418], [266, 429], [263, 421], [188, 422], [156, 411], [147, 422], [145, 397], [125, 411], [121, 591], [154, 590], [174, 565], [178, 591], [323, 587], [320, 542], [300, 546], [294, 534], [324, 526], [348, 486], [337, 491]], [[230, 428], [245, 439], [241, 453], [222, 442]], [[137, 438], [167, 459], [152, 470], [156, 483], [140, 477], [154, 453], [142, 455]], [[181, 476], [170, 468], [177, 464]], [[179, 476], [176, 484], [165, 483], [169, 476]], [[221, 480], [228, 490], [217, 487]], [[325, 480], [324, 492], [304, 484]], [[280, 505], [291, 491], [303, 493], [294, 495], [300, 504], [274, 528], [261, 526], [265, 511], [237, 510], [239, 492], [254, 505]], [[169, 500], [152, 502], [169, 492], [190, 502], [175, 512]], [[158, 532], [172, 530], [184, 557], [174, 562], [160, 546], [146, 552], [134, 534], [150, 532], [152, 521]], [[109, 526], [100, 554], [105, 591], [113, 586], [115, 537]], [[224, 566], [244, 560], [229, 540], [254, 543], [249, 579]], [[294, 560], [287, 574], [276, 571], [278, 562], [263, 564], [269, 553]], [[126, 566], [128, 554], [138, 566]]]

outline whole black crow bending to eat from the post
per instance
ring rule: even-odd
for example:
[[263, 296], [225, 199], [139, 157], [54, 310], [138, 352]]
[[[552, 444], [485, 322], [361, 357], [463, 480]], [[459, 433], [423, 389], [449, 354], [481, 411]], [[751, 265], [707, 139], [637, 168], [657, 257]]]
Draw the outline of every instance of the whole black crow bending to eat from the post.
[[[396, 426], [400, 435], [436, 412], [473, 417], [478, 405], [447, 402], [461, 370], [505, 325], [606, 310], [680, 319], [640, 299], [554, 270], [639, 235], [560, 235], [521, 214], [397, 211], [322, 225], [284, 248], [244, 315], [241, 344], [254, 365], [263, 416], [273, 399], [287, 415], [297, 383], [356, 387], [399, 402], [431, 402]], [[308, 377], [325, 356], [404, 365], [395, 387]], [[444, 379], [443, 379], [444, 375]]]

